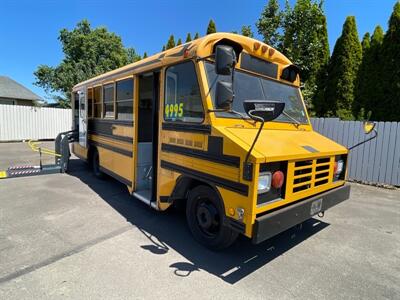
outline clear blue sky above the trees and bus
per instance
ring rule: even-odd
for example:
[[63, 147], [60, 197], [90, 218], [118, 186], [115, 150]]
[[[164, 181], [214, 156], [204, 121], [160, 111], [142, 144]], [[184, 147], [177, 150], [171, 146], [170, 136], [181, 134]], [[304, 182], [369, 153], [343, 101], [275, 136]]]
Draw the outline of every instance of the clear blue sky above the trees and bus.
[[[284, 0], [280, 0], [282, 7]], [[294, 0], [290, 1], [291, 3]], [[325, 0], [331, 50], [346, 16], [356, 17], [360, 39], [376, 25], [384, 30], [396, 0]], [[63, 57], [57, 37], [86, 18], [105, 26], [139, 54], [159, 52], [172, 33], [176, 39], [200, 35], [210, 18], [218, 31], [239, 31], [255, 23], [267, 0], [0, 0], [0, 75], [7, 75], [38, 95], [33, 72], [40, 64], [57, 65]], [[257, 37], [257, 35], [256, 35]]]

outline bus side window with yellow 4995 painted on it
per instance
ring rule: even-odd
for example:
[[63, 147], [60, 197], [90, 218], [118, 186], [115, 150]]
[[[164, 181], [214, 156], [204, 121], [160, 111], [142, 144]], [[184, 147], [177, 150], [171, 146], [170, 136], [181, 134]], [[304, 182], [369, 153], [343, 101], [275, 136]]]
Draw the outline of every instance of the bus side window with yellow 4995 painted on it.
[[171, 66], [165, 73], [164, 120], [201, 123], [204, 110], [193, 62]]

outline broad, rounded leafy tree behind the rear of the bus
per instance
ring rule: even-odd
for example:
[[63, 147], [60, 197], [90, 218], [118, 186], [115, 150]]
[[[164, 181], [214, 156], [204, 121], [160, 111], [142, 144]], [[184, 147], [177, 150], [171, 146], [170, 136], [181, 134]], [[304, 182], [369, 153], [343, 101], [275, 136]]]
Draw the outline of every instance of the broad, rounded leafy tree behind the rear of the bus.
[[[83, 20], [69, 31], [62, 29], [58, 37], [64, 58], [58, 66], [40, 65], [34, 72], [35, 85], [69, 105], [72, 87], [86, 79], [119, 68], [129, 62], [122, 40], [104, 27], [92, 29]], [[55, 96], [56, 95], [56, 96]]]

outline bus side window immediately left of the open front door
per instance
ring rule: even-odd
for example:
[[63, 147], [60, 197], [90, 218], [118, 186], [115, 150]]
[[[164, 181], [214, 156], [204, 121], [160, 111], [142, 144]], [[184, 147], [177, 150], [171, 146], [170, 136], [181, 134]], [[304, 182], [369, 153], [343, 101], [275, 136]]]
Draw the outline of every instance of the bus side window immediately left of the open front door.
[[117, 119], [133, 120], [133, 79], [117, 81]]

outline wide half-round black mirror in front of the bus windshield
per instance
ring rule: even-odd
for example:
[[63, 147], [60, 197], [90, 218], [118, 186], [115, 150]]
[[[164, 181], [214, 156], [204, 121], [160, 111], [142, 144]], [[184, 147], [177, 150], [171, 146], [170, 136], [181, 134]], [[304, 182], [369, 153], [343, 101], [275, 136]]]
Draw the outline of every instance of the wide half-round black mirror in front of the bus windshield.
[[279, 101], [263, 101], [263, 100], [246, 100], [243, 102], [245, 112], [250, 118], [264, 122], [275, 120], [283, 112], [285, 102]]

